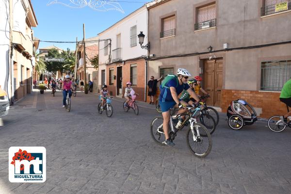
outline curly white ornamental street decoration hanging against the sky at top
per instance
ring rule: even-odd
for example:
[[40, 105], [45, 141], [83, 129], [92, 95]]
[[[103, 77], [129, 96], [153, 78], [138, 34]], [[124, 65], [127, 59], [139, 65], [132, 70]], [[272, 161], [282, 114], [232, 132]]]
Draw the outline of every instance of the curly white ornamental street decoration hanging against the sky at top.
[[115, 10], [124, 14], [121, 5], [116, 0], [49, 0], [47, 6], [57, 3], [70, 8], [83, 8], [88, 6], [98, 12]]

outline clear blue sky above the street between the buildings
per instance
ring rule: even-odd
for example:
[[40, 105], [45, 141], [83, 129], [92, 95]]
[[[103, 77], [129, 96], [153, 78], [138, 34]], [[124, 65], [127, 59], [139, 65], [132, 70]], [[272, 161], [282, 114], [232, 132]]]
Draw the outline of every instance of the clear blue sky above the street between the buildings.
[[[69, 8], [62, 4], [47, 6], [50, 1], [32, 0], [32, 6], [38, 22], [38, 26], [33, 28], [34, 36], [44, 41], [76, 41], [76, 37], [81, 40], [83, 38], [83, 23], [85, 24], [86, 38], [97, 36], [99, 32], [140, 8], [145, 4], [144, 2], [151, 0], [117, 0], [135, 2], [119, 2], [125, 12], [124, 14], [113, 10], [97, 12], [88, 6], [80, 9]], [[69, 0], [62, 1], [69, 2]], [[39, 48], [49, 45], [55, 45], [62, 49], [76, 49], [76, 44], [43, 42], [40, 42]]]

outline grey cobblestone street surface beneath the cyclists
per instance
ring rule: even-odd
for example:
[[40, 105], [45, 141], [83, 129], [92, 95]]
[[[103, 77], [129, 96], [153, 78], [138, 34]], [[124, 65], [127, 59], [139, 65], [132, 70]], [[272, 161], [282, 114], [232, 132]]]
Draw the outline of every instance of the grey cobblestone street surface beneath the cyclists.
[[[186, 133], [176, 146], [154, 143], [154, 105], [139, 102], [138, 116], [113, 99], [113, 116], [97, 113], [97, 95], [78, 92], [71, 112], [62, 93], [34, 91], [1, 118], [0, 194], [290, 194], [291, 130], [272, 132], [266, 122], [233, 131], [221, 113], [212, 150], [200, 159], [188, 151]], [[11, 183], [8, 149], [43, 146], [44, 183]]]

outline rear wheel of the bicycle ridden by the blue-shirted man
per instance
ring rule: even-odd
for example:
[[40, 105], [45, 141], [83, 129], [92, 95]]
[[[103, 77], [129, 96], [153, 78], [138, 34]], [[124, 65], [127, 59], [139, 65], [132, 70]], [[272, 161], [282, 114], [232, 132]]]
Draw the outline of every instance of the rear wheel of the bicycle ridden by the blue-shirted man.
[[162, 117], [155, 117], [150, 123], [150, 135], [153, 140], [158, 143], [162, 144], [165, 139], [165, 134], [162, 128], [163, 118]]

